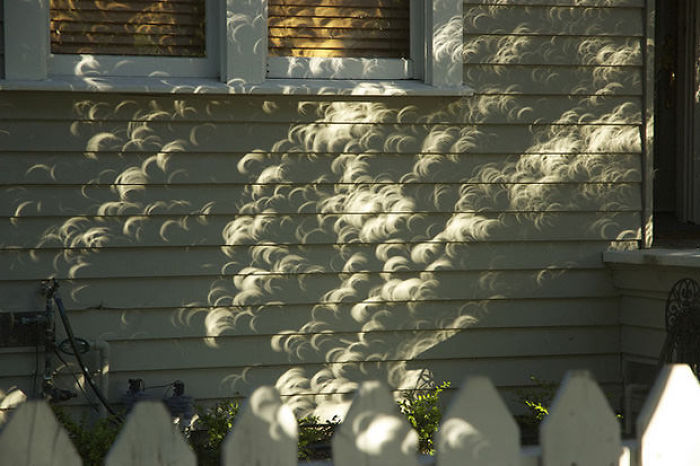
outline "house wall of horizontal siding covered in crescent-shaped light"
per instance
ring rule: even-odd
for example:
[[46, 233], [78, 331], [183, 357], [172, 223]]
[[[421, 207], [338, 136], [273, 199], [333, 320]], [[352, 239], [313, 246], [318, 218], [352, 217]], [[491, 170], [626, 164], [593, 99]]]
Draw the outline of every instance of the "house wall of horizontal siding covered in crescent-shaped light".
[[[641, 240], [644, 2], [464, 15], [471, 97], [0, 93], [2, 312], [58, 278], [112, 400], [135, 377], [328, 412], [374, 377], [615, 388], [601, 254]], [[33, 348], [2, 351], [0, 397], [31, 392]]]

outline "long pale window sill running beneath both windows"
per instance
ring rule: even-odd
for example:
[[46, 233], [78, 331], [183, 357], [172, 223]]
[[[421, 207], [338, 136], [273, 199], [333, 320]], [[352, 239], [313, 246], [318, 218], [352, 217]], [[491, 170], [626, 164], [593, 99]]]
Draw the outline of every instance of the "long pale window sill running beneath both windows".
[[45, 80], [0, 80], [0, 91], [75, 91], [126, 94], [255, 94], [350, 96], [470, 96], [468, 86], [439, 88], [420, 81], [268, 79], [263, 84], [225, 84], [205, 78], [55, 76]]

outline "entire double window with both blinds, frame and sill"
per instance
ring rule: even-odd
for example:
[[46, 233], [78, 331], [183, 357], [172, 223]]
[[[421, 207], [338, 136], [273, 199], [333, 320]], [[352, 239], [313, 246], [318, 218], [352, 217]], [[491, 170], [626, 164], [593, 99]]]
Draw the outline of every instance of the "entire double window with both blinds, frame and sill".
[[11, 0], [3, 8], [3, 89], [99, 82], [105, 90], [346, 93], [366, 81], [370, 93], [469, 93], [461, 0]]

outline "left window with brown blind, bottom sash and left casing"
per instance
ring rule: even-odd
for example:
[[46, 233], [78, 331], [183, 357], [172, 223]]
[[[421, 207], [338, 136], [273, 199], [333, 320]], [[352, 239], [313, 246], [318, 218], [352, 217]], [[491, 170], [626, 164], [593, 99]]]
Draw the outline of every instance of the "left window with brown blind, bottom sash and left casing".
[[218, 1], [4, 2], [5, 77], [216, 78]]

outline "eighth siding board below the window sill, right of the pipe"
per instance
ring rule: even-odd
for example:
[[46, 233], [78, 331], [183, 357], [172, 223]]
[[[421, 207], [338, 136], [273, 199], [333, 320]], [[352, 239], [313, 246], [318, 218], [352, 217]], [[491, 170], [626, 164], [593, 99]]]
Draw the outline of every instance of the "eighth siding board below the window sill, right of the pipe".
[[[575, 299], [378, 301], [381, 330], [459, 330], [465, 328], [595, 327], [617, 325], [615, 297]], [[70, 310], [77, 335], [107, 340], [197, 338], [203, 335], [277, 335], [361, 332], [365, 322], [352, 315], [353, 303], [323, 305], [269, 304], [150, 309], [94, 308]], [[318, 325], [308, 325], [309, 321]], [[379, 328], [377, 329], [379, 330]]]

